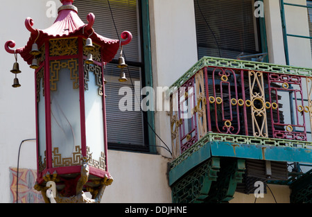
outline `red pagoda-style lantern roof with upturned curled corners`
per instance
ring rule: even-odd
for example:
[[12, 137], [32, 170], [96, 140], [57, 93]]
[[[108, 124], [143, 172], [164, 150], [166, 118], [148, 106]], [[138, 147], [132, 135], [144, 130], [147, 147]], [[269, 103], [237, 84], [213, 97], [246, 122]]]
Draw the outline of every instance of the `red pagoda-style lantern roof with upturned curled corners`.
[[6, 51], [8, 53], [19, 53], [21, 58], [28, 64], [31, 64], [33, 55], [29, 54], [29, 52], [34, 43], [40, 46], [46, 39], [83, 35], [85, 37], [90, 37], [93, 42], [102, 46], [103, 62], [110, 62], [116, 55], [119, 46], [128, 44], [132, 40], [132, 35], [128, 31], [124, 31], [121, 34], [121, 38], [125, 40], [123, 42], [94, 33], [92, 26], [95, 16], [93, 13], [89, 13], [87, 16], [87, 21], [89, 23], [85, 24], [78, 16], [77, 8], [73, 6], [73, 0], [61, 0], [61, 2], [63, 5], [58, 9], [58, 17], [55, 19], [52, 26], [44, 30], [35, 29], [33, 28], [33, 19], [30, 17], [26, 18], [25, 26], [28, 31], [31, 32], [31, 37], [26, 46], [12, 50], [12, 48], [15, 47], [15, 42], [8, 41], [5, 44]]

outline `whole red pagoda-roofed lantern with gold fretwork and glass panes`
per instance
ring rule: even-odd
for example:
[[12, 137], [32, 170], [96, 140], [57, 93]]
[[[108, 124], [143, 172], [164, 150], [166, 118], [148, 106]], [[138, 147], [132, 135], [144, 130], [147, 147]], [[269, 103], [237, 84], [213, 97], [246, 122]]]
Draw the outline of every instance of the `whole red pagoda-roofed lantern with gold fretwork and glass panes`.
[[[123, 32], [123, 42], [98, 35], [92, 28], [92, 13], [87, 17], [89, 24], [84, 24], [73, 1], [62, 3], [55, 23], [45, 30], [34, 29], [33, 20], [26, 19], [31, 38], [24, 48], [11, 50], [13, 41], [5, 47], [9, 53], [19, 53], [32, 68], [37, 60], [35, 188], [42, 191], [46, 202], [51, 182], [58, 202], [86, 202], [81, 199], [83, 191], [99, 202], [105, 186], [112, 183], [107, 168], [103, 68], [132, 35]], [[35, 54], [33, 44], [38, 47]]]

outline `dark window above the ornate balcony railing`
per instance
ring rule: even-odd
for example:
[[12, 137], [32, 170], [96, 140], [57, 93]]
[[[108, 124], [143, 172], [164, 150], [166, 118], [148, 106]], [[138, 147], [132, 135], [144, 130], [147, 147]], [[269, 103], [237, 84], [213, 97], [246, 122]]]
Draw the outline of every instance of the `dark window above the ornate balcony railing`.
[[198, 59], [266, 52], [259, 31], [263, 17], [254, 16], [254, 0], [194, 0], [194, 6]]

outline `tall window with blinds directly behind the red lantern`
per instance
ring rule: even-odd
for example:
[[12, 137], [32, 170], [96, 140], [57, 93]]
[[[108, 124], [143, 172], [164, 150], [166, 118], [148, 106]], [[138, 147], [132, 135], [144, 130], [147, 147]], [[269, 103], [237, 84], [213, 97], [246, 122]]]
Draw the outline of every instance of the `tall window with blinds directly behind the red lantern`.
[[[146, 120], [148, 114], [135, 110], [135, 100], [141, 101], [141, 96], [135, 96], [135, 82], [140, 82], [141, 87], [146, 84], [146, 53], [144, 55], [144, 37], [142, 36], [141, 6], [146, 1], [138, 0], [76, 0], [74, 5], [78, 8], [78, 15], [87, 23], [87, 15], [93, 12], [96, 16], [94, 31], [104, 37], [118, 39], [123, 31], [130, 31], [133, 39], [130, 44], [123, 47], [123, 54], [128, 68], [125, 68], [127, 82], [119, 82], [121, 70], [116, 66], [120, 50], [112, 62], [104, 70], [106, 112], [107, 112], [107, 139], [108, 148], [123, 150], [148, 151], [148, 128]], [[118, 32], [118, 35], [117, 33]], [[121, 39], [121, 38], [120, 38]], [[129, 69], [129, 70], [128, 70]], [[119, 101], [125, 95], [119, 96], [119, 89], [128, 87], [132, 90], [133, 110], [121, 112]], [[121, 93], [124, 94], [124, 93]], [[129, 95], [127, 95], [129, 96]], [[151, 124], [151, 123], [150, 123]], [[152, 125], [152, 124], [151, 124]]]

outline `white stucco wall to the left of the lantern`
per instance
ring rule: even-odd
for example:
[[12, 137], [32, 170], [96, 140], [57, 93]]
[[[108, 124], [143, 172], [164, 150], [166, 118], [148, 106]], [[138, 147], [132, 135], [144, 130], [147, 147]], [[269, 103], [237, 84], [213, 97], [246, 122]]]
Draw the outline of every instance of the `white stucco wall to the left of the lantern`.
[[[10, 72], [15, 62], [14, 55], [4, 50], [8, 40], [16, 42], [15, 48], [25, 46], [30, 33], [24, 25], [26, 17], [35, 21], [35, 28], [46, 28], [54, 18], [46, 17], [47, 1], [2, 1], [0, 18], [0, 202], [10, 202], [9, 167], [17, 167], [19, 144], [24, 139], [35, 138], [35, 78], [33, 69], [18, 55], [17, 75], [21, 87], [12, 87], [14, 74]], [[57, 2], [60, 5], [59, 1]], [[34, 141], [21, 146], [20, 168], [37, 168]]]

